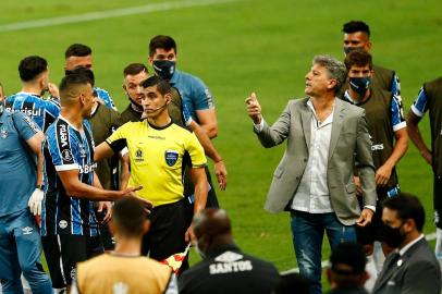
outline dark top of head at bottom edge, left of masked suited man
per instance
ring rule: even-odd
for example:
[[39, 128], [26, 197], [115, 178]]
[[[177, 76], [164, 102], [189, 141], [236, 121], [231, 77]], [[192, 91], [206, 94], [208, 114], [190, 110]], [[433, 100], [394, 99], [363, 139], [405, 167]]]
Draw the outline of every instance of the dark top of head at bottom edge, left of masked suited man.
[[364, 273], [366, 265], [367, 257], [363, 246], [354, 242], [340, 243], [330, 256], [330, 267], [337, 274]]

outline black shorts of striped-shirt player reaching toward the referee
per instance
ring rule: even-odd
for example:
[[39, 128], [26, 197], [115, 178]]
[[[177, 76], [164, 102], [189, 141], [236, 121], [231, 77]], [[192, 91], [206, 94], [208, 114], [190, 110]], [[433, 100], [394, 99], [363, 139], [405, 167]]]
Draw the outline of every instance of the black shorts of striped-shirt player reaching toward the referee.
[[103, 253], [100, 236], [48, 235], [41, 236], [41, 244], [54, 289], [72, 284], [77, 262]]

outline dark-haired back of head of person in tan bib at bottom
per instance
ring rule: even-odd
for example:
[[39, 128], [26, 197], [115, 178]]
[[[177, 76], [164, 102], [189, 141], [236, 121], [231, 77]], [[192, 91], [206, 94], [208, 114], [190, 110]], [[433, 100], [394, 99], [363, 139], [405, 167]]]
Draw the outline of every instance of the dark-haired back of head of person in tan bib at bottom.
[[124, 197], [113, 206], [113, 222], [125, 236], [139, 236], [144, 233], [144, 223], [148, 219], [142, 201], [134, 197]]

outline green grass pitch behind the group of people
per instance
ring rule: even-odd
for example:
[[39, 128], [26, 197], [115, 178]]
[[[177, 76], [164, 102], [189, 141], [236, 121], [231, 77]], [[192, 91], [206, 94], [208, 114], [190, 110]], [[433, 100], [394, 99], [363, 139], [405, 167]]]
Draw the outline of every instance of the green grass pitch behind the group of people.
[[[147, 1], [2, 1], [0, 26], [123, 9], [127, 3], [138, 7]], [[438, 11], [437, 0], [250, 0], [3, 30], [0, 81], [8, 94], [17, 91], [20, 59], [40, 54], [49, 61], [51, 79], [59, 83], [65, 48], [84, 42], [94, 49], [97, 86], [108, 89], [122, 110], [127, 105], [121, 88], [122, 69], [131, 62], [147, 62], [150, 37], [172, 35], [179, 44], [179, 69], [200, 76], [216, 97], [219, 136], [214, 143], [229, 169], [228, 189], [218, 196], [232, 217], [236, 242], [244, 250], [287, 270], [296, 267], [288, 216], [262, 209], [284, 146], [263, 149], [259, 145], [244, 99], [256, 91], [266, 120], [273, 122], [288, 98], [304, 96], [304, 75], [312, 57], [328, 53], [343, 59], [342, 24], [364, 20], [372, 32], [375, 63], [396, 70], [401, 77], [407, 112], [422, 82], [441, 75], [442, 19]], [[421, 126], [428, 139], [427, 119]], [[419, 195], [425, 203], [426, 232], [433, 232], [432, 174], [413, 145], [398, 173], [403, 191]], [[326, 246], [323, 258], [328, 257]], [[192, 260], [197, 260], [195, 255]]]

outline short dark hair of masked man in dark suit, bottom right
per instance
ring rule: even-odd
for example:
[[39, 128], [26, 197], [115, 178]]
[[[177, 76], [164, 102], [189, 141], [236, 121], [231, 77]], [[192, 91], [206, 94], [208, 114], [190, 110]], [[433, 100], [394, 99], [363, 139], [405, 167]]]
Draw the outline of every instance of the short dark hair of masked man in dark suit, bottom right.
[[416, 223], [416, 229], [422, 232], [425, 209], [419, 198], [412, 194], [401, 192], [395, 197], [386, 198], [382, 203], [382, 208], [385, 207], [395, 210], [401, 220], [413, 219]]

